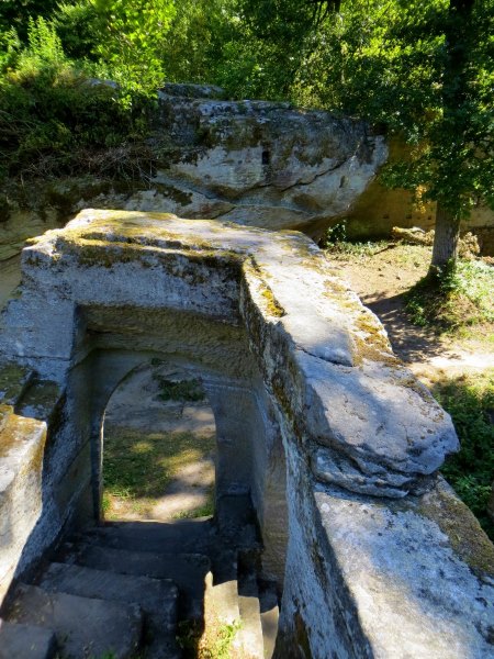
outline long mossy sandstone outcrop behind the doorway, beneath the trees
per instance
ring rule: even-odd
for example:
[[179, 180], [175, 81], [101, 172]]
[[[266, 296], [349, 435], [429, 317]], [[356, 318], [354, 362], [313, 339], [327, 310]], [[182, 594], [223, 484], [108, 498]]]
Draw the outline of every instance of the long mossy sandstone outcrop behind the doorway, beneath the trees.
[[315, 235], [348, 211], [386, 158], [383, 137], [363, 122], [221, 94], [207, 86], [166, 86], [146, 161], [115, 155], [125, 175], [8, 191], [0, 199], [0, 259], [86, 208], [221, 217]]

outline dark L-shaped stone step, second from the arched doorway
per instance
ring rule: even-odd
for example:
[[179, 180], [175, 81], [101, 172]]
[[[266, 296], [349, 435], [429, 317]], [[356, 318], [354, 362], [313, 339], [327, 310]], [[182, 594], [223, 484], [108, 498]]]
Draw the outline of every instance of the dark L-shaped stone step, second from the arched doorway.
[[193, 618], [202, 616], [204, 578], [210, 571], [210, 559], [202, 554], [128, 551], [80, 544], [66, 562], [120, 574], [171, 579], [180, 591], [181, 613]]

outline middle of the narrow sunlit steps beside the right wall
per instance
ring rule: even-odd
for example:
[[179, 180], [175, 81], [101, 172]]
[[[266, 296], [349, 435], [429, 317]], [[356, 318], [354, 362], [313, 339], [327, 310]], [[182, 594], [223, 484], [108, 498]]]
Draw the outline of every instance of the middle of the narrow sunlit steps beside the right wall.
[[239, 574], [238, 607], [242, 629], [239, 636], [243, 646], [243, 659], [263, 659], [261, 611], [256, 574], [251, 571]]

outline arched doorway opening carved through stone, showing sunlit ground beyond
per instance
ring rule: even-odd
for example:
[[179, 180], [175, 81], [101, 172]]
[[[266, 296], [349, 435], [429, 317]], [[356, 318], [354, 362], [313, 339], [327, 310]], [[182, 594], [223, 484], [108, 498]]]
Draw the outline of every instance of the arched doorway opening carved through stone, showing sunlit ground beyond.
[[214, 514], [216, 425], [200, 377], [154, 362], [111, 395], [102, 517], [167, 522]]

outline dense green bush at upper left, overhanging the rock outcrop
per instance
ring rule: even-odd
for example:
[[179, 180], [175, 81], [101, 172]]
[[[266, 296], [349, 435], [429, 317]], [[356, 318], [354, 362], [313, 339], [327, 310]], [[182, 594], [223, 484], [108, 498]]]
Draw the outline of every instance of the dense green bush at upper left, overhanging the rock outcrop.
[[[149, 101], [138, 92], [122, 103], [121, 90], [91, 78], [68, 58], [53, 24], [30, 20], [29, 44], [11, 40], [0, 77], [0, 176], [46, 177], [108, 169], [111, 150], [132, 144], [147, 129]], [[88, 158], [88, 149], [91, 157]], [[101, 152], [101, 157], [97, 157]], [[120, 165], [119, 165], [120, 167]], [[106, 171], [111, 174], [111, 171]]]

